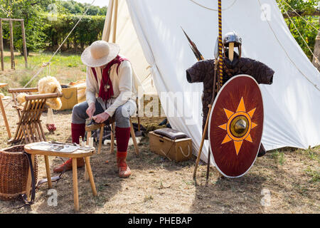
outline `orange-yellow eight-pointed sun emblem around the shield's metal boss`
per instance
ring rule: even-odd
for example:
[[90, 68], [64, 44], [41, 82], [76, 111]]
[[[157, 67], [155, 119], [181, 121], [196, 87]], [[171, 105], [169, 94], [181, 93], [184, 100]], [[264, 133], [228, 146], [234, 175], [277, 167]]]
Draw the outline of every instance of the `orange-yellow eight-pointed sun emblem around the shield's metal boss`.
[[257, 126], [257, 124], [252, 123], [251, 121], [251, 118], [255, 113], [255, 109], [256, 108], [250, 110], [250, 112], [246, 112], [243, 98], [241, 98], [235, 113], [223, 108], [223, 110], [225, 110], [225, 115], [227, 115], [228, 123], [219, 126], [219, 128], [227, 131], [227, 135], [225, 135], [225, 139], [221, 145], [233, 140], [233, 143], [235, 144], [235, 152], [237, 152], [238, 155], [243, 140], [252, 142], [250, 131], [252, 128]]

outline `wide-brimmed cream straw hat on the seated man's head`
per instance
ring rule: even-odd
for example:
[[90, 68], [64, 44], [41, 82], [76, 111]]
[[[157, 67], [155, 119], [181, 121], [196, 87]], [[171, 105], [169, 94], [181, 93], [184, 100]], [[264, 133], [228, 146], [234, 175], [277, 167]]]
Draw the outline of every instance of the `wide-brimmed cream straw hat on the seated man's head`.
[[85, 48], [81, 61], [86, 66], [99, 67], [110, 63], [120, 52], [120, 46], [106, 41], [95, 41]]

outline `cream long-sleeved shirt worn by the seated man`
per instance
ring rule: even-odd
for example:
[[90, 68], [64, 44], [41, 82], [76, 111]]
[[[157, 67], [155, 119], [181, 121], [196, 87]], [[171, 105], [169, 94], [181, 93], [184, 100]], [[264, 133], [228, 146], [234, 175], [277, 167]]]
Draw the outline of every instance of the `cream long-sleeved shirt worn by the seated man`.
[[117, 108], [124, 105], [129, 99], [135, 101], [137, 97], [137, 84], [135, 83], [134, 72], [132, 71], [132, 65], [129, 61], [123, 61], [119, 66], [119, 74], [117, 73], [118, 64], [114, 64], [110, 68], [110, 80], [112, 82], [112, 88], [114, 95], [105, 103], [102, 98], [96, 97], [99, 94], [100, 83], [102, 78], [102, 69], [100, 67], [95, 68], [97, 73], [97, 80], [90, 67], [87, 67], [87, 79], [86, 79], [86, 98], [87, 104], [95, 103], [97, 100], [102, 106], [103, 110], [112, 117]]

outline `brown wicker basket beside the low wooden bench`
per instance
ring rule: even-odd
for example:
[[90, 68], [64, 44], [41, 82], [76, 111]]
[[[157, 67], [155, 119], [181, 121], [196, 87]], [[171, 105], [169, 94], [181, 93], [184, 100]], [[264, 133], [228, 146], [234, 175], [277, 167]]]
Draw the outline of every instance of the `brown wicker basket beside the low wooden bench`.
[[[23, 145], [0, 150], [0, 199], [14, 200], [26, 193], [29, 163], [23, 153]], [[34, 174], [38, 177], [38, 160], [34, 162]]]

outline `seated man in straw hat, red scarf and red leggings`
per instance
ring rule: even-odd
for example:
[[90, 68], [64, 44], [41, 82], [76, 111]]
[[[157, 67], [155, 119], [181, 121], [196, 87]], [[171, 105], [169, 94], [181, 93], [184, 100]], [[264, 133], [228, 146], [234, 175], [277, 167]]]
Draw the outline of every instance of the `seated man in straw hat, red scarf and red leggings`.
[[[117, 167], [119, 177], [125, 178], [131, 175], [126, 157], [130, 138], [129, 118], [137, 110], [135, 99], [138, 81], [131, 63], [119, 56], [119, 51], [117, 44], [105, 41], [95, 41], [83, 51], [81, 60], [87, 66], [87, 100], [73, 108], [71, 135], [73, 142], [79, 143], [80, 136], [85, 136], [87, 118], [103, 123], [114, 115]], [[85, 162], [80, 158], [77, 164], [82, 167]], [[63, 172], [64, 169], [72, 169], [71, 159], [56, 167], [54, 172]]]

